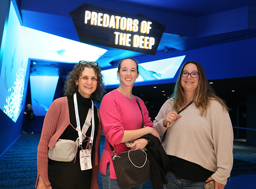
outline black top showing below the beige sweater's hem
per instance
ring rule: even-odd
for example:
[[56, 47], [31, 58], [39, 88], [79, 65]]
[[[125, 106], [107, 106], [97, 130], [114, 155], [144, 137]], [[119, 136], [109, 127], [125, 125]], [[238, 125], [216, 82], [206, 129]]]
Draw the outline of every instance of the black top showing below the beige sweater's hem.
[[188, 181], [206, 181], [211, 177], [214, 172], [205, 169], [204, 167], [189, 162], [185, 159], [178, 158], [173, 155], [168, 155], [171, 162], [170, 171], [179, 178], [183, 178]]

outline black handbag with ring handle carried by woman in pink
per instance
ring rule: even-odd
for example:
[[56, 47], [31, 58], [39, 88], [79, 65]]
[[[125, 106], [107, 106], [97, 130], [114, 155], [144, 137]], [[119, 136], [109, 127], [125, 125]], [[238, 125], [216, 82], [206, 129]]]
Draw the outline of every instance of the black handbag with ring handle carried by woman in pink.
[[[140, 107], [138, 99], [137, 104]], [[144, 118], [142, 113], [142, 128], [144, 125]], [[116, 177], [120, 188], [133, 188], [151, 180], [150, 161], [144, 150], [129, 150], [117, 155], [114, 147], [109, 143], [109, 146], [114, 153], [112, 161], [116, 172]]]

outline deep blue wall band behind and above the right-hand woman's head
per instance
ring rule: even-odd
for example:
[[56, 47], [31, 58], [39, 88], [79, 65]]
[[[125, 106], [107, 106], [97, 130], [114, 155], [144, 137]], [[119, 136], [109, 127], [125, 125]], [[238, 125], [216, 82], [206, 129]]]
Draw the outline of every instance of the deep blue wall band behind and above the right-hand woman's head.
[[[169, 53], [159, 52], [155, 55], [136, 57], [136, 59], [142, 63], [186, 55], [183, 63], [187, 61], [199, 62], [203, 66], [208, 80], [248, 77], [256, 76], [255, 46], [256, 37], [190, 51], [173, 49], [169, 50]], [[177, 77], [178, 72], [173, 79], [165, 80], [164, 83], [174, 83]], [[147, 82], [145, 83], [147, 84]], [[154, 82], [148, 82], [148, 85], [152, 84]]]

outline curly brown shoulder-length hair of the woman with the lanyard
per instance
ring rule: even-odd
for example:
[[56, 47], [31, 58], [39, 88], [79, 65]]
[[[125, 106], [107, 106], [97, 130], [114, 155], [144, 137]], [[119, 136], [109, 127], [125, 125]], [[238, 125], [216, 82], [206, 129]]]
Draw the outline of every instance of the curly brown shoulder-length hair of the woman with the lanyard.
[[[80, 61], [86, 62], [86, 61]], [[86, 62], [86, 63], [78, 63], [74, 66], [74, 69], [68, 73], [67, 79], [65, 81], [65, 85], [63, 88], [65, 96], [71, 96], [74, 92], [78, 91], [76, 87], [76, 81], [79, 80], [79, 77], [82, 75], [84, 67], [93, 68], [96, 76], [97, 76], [97, 88], [91, 94], [91, 99], [95, 102], [97, 100], [101, 100], [104, 96], [104, 83], [103, 83], [103, 76], [101, 74], [101, 66], [98, 65], [96, 62]]]

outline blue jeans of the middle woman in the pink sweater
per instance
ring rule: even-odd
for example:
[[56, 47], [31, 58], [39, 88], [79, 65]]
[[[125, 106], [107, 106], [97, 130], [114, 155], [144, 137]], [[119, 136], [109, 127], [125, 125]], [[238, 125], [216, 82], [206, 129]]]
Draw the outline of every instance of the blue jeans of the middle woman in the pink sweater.
[[[117, 179], [110, 178], [110, 170], [109, 170], [110, 163], [108, 162], [106, 175], [101, 173], [101, 181], [103, 189], [120, 189]], [[131, 189], [142, 189], [142, 185], [133, 187]]]

